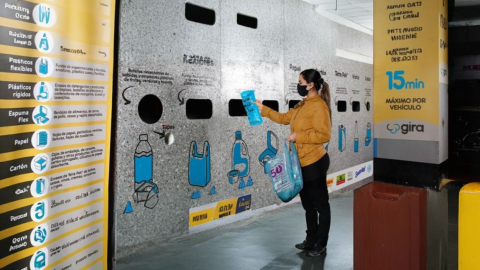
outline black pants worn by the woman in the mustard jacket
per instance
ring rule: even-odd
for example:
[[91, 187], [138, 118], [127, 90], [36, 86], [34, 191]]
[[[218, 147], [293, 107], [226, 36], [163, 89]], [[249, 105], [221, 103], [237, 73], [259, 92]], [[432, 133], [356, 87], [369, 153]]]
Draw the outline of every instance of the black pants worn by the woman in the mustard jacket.
[[302, 167], [303, 189], [300, 192], [307, 220], [307, 241], [327, 246], [330, 231], [330, 203], [328, 202], [328, 153], [315, 163]]

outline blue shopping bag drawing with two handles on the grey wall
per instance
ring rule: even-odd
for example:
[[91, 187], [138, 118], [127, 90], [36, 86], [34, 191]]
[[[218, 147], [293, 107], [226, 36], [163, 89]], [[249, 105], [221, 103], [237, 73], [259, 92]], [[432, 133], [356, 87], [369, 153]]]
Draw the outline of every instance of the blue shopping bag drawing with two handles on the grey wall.
[[197, 151], [197, 142], [190, 144], [190, 161], [188, 164], [188, 179], [190, 185], [205, 187], [210, 183], [210, 143], [206, 141], [203, 154]]

